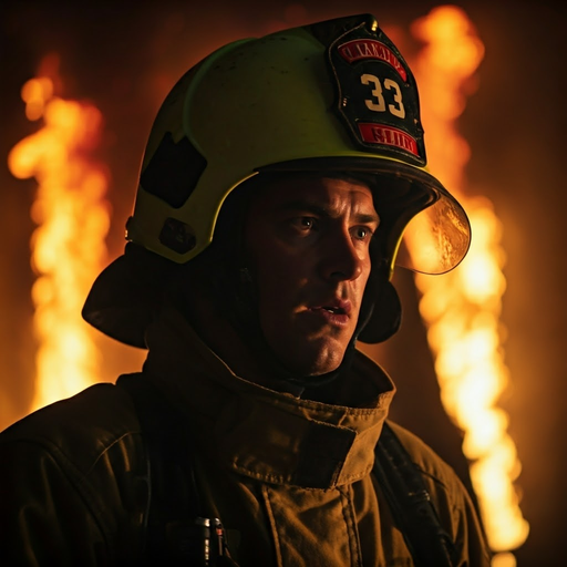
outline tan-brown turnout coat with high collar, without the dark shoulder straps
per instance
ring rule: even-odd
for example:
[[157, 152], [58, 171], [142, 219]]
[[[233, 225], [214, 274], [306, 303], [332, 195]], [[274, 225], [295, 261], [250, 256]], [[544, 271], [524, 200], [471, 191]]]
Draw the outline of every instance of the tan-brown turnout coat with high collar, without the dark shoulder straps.
[[[221, 519], [234, 563], [414, 565], [372, 474], [394, 394], [380, 367], [357, 352], [340, 403], [329, 404], [236, 375], [175, 311], [150, 328], [147, 344], [143, 372], [130, 380], [148, 380], [179, 416], [186, 431], [175, 442], [190, 444], [202, 514]], [[455, 565], [488, 566], [482, 527], [453, 470], [415, 435], [391, 426], [455, 543]], [[178, 449], [182, 458], [187, 447]], [[147, 457], [120, 380], [10, 426], [0, 434], [0, 564], [143, 565]], [[183, 506], [186, 491], [165, 488]]]

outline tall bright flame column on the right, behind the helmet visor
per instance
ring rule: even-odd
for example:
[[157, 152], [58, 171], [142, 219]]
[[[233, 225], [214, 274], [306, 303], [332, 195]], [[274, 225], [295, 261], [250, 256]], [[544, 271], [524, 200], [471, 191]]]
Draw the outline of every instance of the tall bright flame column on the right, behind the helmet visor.
[[[484, 47], [460, 8], [442, 6], [416, 20], [413, 34], [424, 47], [413, 64], [423, 101], [430, 167], [467, 210], [473, 241], [468, 256], [441, 278], [416, 275], [420, 311], [445, 410], [464, 432], [463, 452], [494, 551], [522, 545], [529, 526], [514, 487], [520, 472], [508, 415], [496, 404], [509, 383], [504, 363], [504, 328], [499, 321], [505, 254], [502, 225], [485, 197], [463, 193], [470, 147], [455, 128], [465, 106], [465, 86], [484, 55]], [[408, 241], [410, 254], [417, 243]], [[509, 553], [495, 555], [493, 566], [514, 566]]]

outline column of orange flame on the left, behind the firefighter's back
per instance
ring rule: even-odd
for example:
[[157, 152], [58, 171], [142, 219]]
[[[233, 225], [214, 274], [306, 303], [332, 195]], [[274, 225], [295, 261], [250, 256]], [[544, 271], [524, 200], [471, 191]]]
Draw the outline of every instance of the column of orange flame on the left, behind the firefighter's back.
[[11, 150], [8, 166], [18, 178], [35, 177], [31, 217], [33, 328], [38, 339], [35, 394], [31, 411], [68, 398], [96, 381], [99, 351], [81, 309], [106, 258], [110, 227], [107, 181], [91, 163], [102, 116], [91, 104], [54, 96], [40, 76], [21, 91], [25, 115], [43, 127]]

